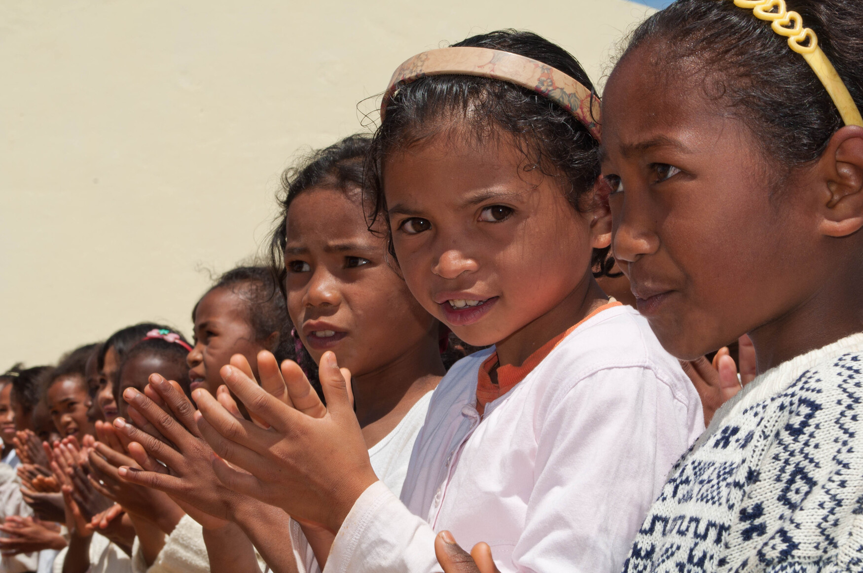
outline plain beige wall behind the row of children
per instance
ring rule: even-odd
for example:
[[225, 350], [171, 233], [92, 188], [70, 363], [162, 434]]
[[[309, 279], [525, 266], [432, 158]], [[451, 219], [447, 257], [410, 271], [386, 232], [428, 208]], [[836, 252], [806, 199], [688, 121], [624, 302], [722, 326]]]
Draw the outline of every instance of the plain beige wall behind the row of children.
[[[144, 319], [189, 333], [264, 241], [298, 148], [361, 129], [407, 57], [496, 28], [593, 79], [649, 11], [624, 0], [0, 3], [0, 371]], [[360, 106], [375, 109], [375, 102]]]

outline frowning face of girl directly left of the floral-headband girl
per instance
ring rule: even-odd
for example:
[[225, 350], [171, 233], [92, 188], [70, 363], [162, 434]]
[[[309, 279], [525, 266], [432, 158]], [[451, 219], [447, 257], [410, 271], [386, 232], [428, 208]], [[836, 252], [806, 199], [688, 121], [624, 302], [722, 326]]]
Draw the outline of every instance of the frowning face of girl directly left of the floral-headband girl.
[[[311, 189], [287, 212], [287, 309], [315, 362], [326, 350], [353, 375], [406, 356], [438, 323], [387, 265], [384, 236], [369, 231], [360, 198]], [[435, 350], [437, 352], [437, 350]]]

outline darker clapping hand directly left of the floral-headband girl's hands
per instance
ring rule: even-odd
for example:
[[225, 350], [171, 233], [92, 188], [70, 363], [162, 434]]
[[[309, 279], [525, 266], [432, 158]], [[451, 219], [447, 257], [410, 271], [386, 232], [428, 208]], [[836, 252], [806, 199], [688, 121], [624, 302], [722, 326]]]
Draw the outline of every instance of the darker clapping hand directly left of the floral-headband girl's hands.
[[[161, 375], [150, 376], [149, 388], [164, 406], [134, 388], [123, 393], [129, 403], [129, 416], [143, 420], [151, 431], [139, 430], [120, 418], [114, 421], [117, 430], [130, 440], [129, 455], [141, 466], [123, 466], [118, 474], [127, 482], [170, 495], [207, 529], [228, 525], [245, 496], [218, 481], [210, 461], [210, 444], [195, 424], [195, 406], [176, 382]], [[166, 416], [166, 412], [171, 415]]]

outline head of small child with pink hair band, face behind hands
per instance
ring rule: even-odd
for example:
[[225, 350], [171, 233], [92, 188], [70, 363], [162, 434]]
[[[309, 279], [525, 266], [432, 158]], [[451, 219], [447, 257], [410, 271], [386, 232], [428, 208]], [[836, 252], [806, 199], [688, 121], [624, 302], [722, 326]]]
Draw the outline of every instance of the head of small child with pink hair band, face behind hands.
[[[123, 359], [115, 394], [123, 396], [127, 388], [143, 392], [150, 375], [155, 373], [167, 380], [176, 381], [183, 393], [189, 396], [191, 391], [186, 357], [191, 349], [186, 339], [176, 332], [149, 331], [147, 337], [135, 344]], [[120, 416], [129, 420], [129, 403], [121, 399], [117, 406]]]

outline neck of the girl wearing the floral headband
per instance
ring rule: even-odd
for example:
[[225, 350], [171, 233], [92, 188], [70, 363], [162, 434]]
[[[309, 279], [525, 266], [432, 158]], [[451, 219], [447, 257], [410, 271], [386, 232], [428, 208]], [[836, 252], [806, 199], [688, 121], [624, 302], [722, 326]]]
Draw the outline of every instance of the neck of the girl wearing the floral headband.
[[543, 344], [606, 303], [608, 297], [588, 270], [566, 298], [495, 345], [498, 362], [521, 366]]

